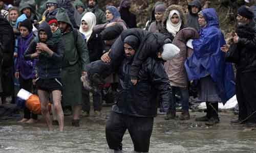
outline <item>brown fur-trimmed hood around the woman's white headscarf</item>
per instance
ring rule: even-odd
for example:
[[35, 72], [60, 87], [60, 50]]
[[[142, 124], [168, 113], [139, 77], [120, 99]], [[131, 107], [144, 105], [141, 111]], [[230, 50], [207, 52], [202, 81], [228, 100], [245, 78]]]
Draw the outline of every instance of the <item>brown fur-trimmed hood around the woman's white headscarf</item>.
[[179, 5], [171, 5], [164, 12], [163, 21], [162, 21], [163, 25], [165, 25], [165, 23], [169, 17], [170, 11], [172, 11], [172, 10], [177, 10], [180, 13], [180, 18], [182, 20], [182, 24], [183, 25], [186, 24], [186, 17], [185, 17], [182, 7]]

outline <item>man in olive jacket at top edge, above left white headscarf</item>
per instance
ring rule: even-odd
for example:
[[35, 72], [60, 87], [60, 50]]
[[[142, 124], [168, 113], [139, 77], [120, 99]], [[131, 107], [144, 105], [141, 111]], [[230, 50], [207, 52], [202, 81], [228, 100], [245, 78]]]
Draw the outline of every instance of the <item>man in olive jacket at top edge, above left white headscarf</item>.
[[83, 14], [87, 12], [92, 12], [95, 14], [97, 19], [96, 24], [102, 24], [106, 22], [105, 13], [101, 9], [99, 9], [98, 0], [87, 0], [87, 8]]

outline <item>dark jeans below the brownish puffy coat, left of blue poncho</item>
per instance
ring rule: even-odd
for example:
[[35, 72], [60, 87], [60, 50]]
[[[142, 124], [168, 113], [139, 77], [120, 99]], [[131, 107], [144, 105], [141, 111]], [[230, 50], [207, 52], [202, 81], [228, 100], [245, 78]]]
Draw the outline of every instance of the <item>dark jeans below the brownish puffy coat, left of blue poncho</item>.
[[188, 111], [188, 89], [172, 86], [172, 96], [170, 103], [170, 110], [176, 111], [177, 98], [176, 94], [180, 93], [181, 106], [183, 111]]

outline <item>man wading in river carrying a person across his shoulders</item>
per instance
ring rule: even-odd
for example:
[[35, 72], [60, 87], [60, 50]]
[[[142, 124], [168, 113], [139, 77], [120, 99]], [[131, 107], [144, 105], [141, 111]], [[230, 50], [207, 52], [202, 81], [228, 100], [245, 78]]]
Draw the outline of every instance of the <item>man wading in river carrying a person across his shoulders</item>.
[[[117, 103], [113, 106], [109, 120], [106, 122], [106, 141], [115, 152], [122, 150], [122, 138], [129, 131], [136, 152], [148, 152], [153, 131], [154, 117], [157, 115], [157, 92], [165, 103], [169, 100], [167, 74], [160, 58], [147, 58], [139, 71], [136, 86], [131, 80], [131, 66], [140, 41], [134, 35], [123, 40], [125, 58], [119, 66], [119, 92]], [[165, 47], [169, 47], [166, 44]], [[163, 51], [164, 52], [164, 51]], [[163, 56], [164, 55], [164, 56]], [[166, 59], [162, 54], [162, 58]]]

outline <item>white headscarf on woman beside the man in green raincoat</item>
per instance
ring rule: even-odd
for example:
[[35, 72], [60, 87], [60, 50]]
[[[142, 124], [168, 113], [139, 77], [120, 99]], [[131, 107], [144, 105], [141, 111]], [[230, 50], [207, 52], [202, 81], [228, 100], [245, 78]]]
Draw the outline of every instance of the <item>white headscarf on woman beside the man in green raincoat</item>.
[[[89, 26], [89, 30], [87, 32], [84, 32], [82, 30], [82, 21], [86, 21]], [[83, 17], [81, 19], [81, 25], [80, 25], [79, 32], [86, 36], [87, 42], [93, 33], [93, 27], [95, 25], [96, 25], [96, 16], [92, 12], [87, 12], [86, 14], [83, 15]]]

